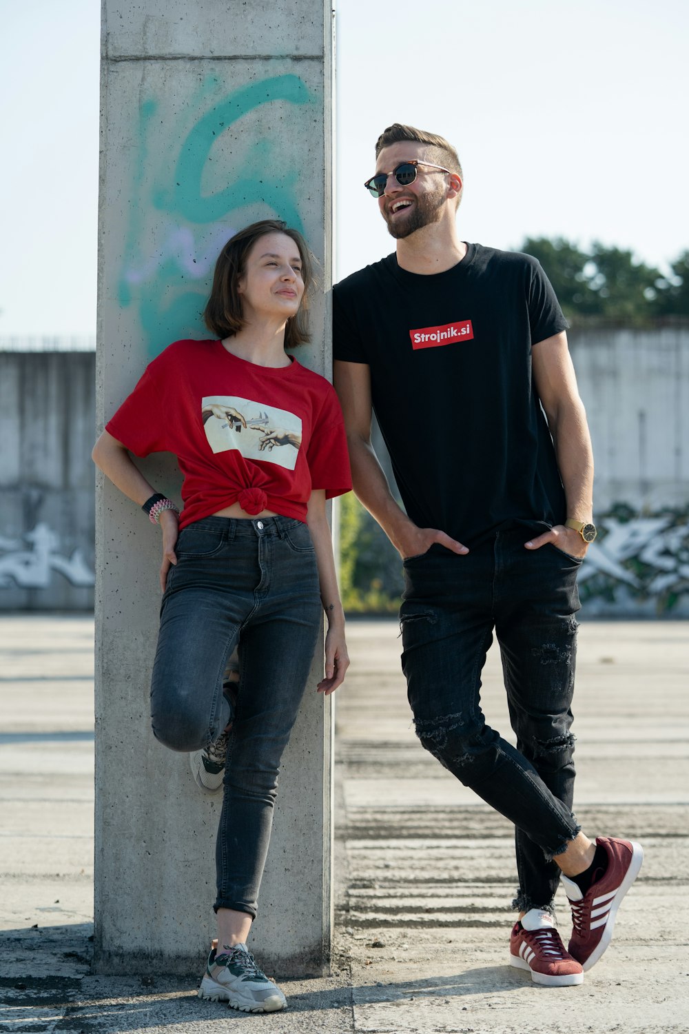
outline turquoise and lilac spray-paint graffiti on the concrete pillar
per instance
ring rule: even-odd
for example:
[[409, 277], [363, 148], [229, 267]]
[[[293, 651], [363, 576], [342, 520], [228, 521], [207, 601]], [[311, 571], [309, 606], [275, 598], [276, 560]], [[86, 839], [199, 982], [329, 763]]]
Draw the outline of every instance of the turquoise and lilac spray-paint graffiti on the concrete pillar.
[[199, 336], [215, 260], [250, 221], [247, 209], [303, 229], [297, 182], [304, 191], [308, 149], [293, 141], [308, 133], [315, 99], [294, 74], [229, 93], [206, 75], [183, 101], [140, 103], [118, 299], [135, 306], [150, 356]]

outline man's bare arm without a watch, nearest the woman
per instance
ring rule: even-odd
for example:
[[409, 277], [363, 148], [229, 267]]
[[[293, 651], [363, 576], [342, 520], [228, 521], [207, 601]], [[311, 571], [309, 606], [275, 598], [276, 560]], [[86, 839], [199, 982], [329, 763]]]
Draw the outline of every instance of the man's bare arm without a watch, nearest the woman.
[[354, 492], [400, 555], [417, 556], [434, 542], [455, 553], [467, 553], [466, 546], [444, 531], [417, 527], [393, 497], [371, 445], [371, 371], [366, 363], [337, 361], [333, 381], [344, 414]]

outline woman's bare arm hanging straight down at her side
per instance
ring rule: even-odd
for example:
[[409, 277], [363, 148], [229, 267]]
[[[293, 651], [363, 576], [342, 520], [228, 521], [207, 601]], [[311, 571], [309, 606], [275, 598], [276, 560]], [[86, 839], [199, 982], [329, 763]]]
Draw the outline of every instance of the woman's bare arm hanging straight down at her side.
[[342, 683], [349, 667], [349, 657], [345, 643], [344, 610], [335, 573], [333, 536], [325, 515], [325, 492], [322, 488], [311, 493], [306, 520], [316, 550], [320, 599], [327, 617], [325, 678], [318, 683], [318, 692], [330, 696]]

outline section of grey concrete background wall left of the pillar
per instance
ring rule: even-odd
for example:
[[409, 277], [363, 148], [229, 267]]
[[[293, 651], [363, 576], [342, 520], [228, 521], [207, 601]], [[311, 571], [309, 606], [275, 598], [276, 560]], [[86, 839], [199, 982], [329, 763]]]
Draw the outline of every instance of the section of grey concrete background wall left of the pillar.
[[93, 607], [94, 367], [0, 351], [0, 610]]

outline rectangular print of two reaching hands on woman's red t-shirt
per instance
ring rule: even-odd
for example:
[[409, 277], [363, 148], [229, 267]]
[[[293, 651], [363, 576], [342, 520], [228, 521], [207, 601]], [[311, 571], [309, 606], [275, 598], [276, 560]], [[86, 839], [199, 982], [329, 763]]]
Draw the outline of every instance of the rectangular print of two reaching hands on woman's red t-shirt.
[[201, 417], [214, 453], [237, 449], [245, 459], [294, 469], [302, 421], [293, 413], [238, 395], [207, 395], [201, 399]]

